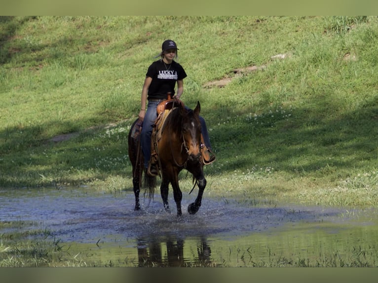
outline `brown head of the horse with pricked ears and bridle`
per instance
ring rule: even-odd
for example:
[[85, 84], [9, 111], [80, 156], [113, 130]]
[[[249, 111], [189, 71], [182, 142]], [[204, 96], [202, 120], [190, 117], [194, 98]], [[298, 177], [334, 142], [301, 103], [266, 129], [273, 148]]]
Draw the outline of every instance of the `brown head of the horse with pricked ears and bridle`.
[[199, 112], [201, 106], [197, 102], [194, 110], [188, 110], [181, 107], [183, 114], [182, 135], [184, 145], [188, 153], [189, 161], [200, 161], [200, 145], [201, 145], [201, 123], [199, 121]]

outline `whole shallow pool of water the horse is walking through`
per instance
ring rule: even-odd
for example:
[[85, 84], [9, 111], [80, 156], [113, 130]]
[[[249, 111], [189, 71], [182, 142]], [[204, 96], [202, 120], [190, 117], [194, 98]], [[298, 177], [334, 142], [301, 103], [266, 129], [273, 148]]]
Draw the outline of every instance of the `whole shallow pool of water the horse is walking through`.
[[[173, 198], [167, 213], [159, 195], [150, 204], [142, 199], [142, 210], [134, 212], [132, 191], [7, 189], [0, 190], [0, 221], [30, 221], [22, 229], [46, 229], [86, 258], [118, 266], [255, 266], [335, 252], [350, 259], [353, 249], [378, 244], [373, 210], [247, 206], [205, 195], [190, 215], [194, 194], [183, 194], [177, 217]], [[377, 252], [370, 250], [374, 259]]]

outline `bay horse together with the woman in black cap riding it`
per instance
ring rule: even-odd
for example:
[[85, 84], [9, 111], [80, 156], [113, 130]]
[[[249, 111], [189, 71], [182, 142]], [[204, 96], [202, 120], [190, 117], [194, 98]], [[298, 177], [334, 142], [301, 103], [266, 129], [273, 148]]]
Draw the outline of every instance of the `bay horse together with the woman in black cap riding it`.
[[[188, 207], [188, 212], [194, 214], [201, 206], [203, 190], [206, 179], [203, 174], [203, 165], [215, 160], [211, 151], [211, 145], [204, 119], [199, 116], [200, 104], [198, 102], [194, 110], [184, 107], [180, 97], [184, 91], [183, 79], [187, 76], [184, 68], [173, 59], [177, 58], [177, 45], [173, 40], [165, 40], [161, 46], [160, 60], [153, 62], [146, 73], [141, 96], [141, 110], [138, 120], [129, 133], [129, 156], [133, 165], [133, 185], [135, 193], [135, 210], [140, 209], [139, 193], [143, 172], [150, 195], [153, 194], [155, 185], [154, 177], [160, 169], [162, 184], [160, 186], [164, 208], [168, 206], [168, 185], [171, 183], [174, 199], [177, 206], [177, 214], [181, 215], [182, 193], [179, 187], [178, 174], [184, 168], [193, 174], [199, 187], [198, 196], [194, 203]], [[166, 119], [166, 126], [162, 132], [160, 141], [157, 142], [159, 154], [159, 167], [151, 163], [151, 133], [157, 113], [156, 107], [167, 99], [167, 94], [175, 94], [176, 107], [171, 110]], [[146, 111], [146, 102], [148, 108]], [[143, 124], [141, 125], [141, 121]], [[135, 135], [136, 127], [142, 126], [140, 135]], [[139, 146], [140, 142], [140, 146]], [[141, 149], [141, 150], [140, 150]], [[142, 160], [143, 156], [143, 160]], [[150, 165], [150, 168], [149, 168]], [[149, 173], [147, 175], [147, 172]]]

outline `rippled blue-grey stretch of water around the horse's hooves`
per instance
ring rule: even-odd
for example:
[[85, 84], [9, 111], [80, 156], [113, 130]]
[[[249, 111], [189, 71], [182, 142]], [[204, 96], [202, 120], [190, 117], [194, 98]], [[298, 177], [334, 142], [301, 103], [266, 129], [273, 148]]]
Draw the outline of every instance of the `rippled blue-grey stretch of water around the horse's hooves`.
[[167, 213], [159, 195], [151, 203], [142, 198], [142, 210], [134, 212], [131, 191], [109, 194], [90, 188], [1, 190], [0, 220], [32, 221], [62, 240], [93, 242], [109, 235], [127, 238], [241, 236], [288, 222], [317, 221], [340, 213], [321, 208], [245, 207], [237, 202], [205, 197], [200, 210], [191, 215], [187, 208], [194, 198], [183, 194], [183, 215], [177, 217], [173, 198], [169, 200], [172, 213]]

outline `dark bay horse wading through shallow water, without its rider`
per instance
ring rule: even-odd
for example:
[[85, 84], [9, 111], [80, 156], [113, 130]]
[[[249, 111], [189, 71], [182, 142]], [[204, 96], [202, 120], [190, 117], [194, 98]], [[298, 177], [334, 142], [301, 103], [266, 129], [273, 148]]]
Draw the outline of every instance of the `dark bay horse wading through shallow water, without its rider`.
[[[182, 192], [179, 186], [179, 173], [183, 169], [186, 169], [193, 175], [193, 180], [195, 180], [194, 186], [198, 185], [197, 198], [188, 206], [190, 214], [195, 214], [201, 206], [203, 191], [206, 187], [206, 178], [203, 173], [203, 163], [200, 153], [201, 124], [199, 121], [199, 112], [201, 106], [197, 102], [197, 106], [194, 110], [191, 110], [181, 103], [177, 103], [176, 105], [165, 120], [161, 138], [157, 141], [157, 151], [158, 165], [161, 173], [160, 195], [163, 200], [164, 209], [167, 212], [170, 211], [168, 205], [168, 186], [170, 183], [176, 202], [177, 216], [180, 216], [182, 215]], [[156, 177], [147, 175], [143, 166], [143, 153], [140, 146], [140, 135], [138, 135], [141, 124], [142, 121], [138, 118], [133, 123], [128, 135], [128, 153], [132, 164], [135, 211], [141, 209], [139, 194], [141, 191], [142, 175], [145, 175], [144, 187], [149, 190], [150, 198], [153, 196], [156, 186]]]

